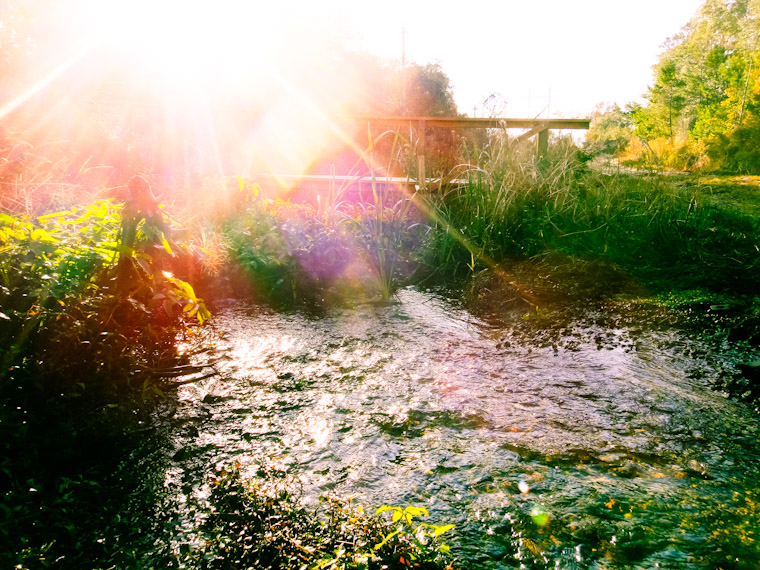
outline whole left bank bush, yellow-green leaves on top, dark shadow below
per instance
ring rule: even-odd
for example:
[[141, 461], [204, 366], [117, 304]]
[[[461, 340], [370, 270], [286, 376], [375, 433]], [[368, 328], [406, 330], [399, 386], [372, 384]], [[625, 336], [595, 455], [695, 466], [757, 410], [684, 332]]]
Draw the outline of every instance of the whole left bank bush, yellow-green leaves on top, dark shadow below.
[[136, 428], [171, 386], [160, 370], [187, 358], [178, 336], [190, 342], [189, 325], [209, 316], [164, 273], [179, 248], [160, 233], [153, 245], [146, 220], [145, 241], [126, 247], [122, 211], [98, 201], [36, 219], [0, 214], [0, 552], [14, 565], [78, 548], [69, 511], [89, 480], [64, 493], [71, 472]]

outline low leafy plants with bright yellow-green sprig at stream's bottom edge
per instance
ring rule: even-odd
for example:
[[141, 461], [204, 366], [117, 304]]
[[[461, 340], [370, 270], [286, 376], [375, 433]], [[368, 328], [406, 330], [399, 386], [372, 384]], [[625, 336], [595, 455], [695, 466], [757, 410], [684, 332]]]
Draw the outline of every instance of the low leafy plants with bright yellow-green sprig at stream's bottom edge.
[[[209, 505], [201, 546], [184, 549], [183, 563], [214, 570], [451, 568], [438, 539], [453, 525], [418, 523], [424, 508], [381, 507], [372, 517], [351, 502], [323, 498], [310, 510], [283, 474], [262, 469], [247, 481], [237, 467], [212, 480]], [[389, 511], [392, 520], [383, 521], [379, 515]]]

